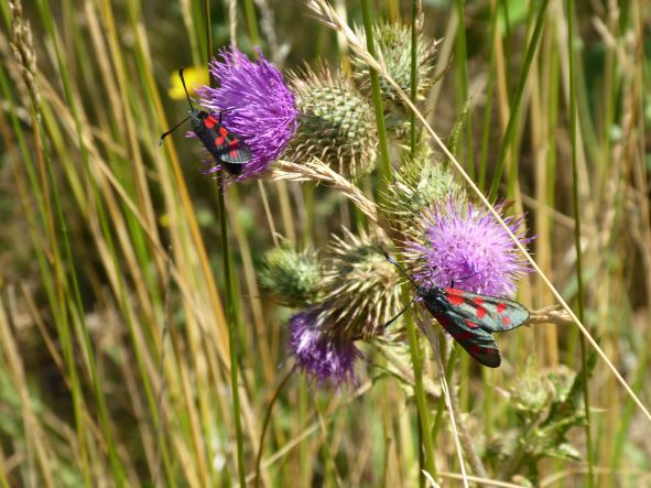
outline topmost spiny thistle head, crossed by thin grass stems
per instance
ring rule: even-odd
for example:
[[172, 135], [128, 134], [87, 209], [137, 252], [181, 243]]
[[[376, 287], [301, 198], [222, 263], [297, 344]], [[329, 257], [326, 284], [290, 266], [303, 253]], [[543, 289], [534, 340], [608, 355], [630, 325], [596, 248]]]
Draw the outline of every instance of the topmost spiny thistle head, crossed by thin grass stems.
[[[357, 29], [360, 39], [366, 39], [362, 29]], [[380, 22], [373, 25], [373, 40], [378, 56], [384, 61], [387, 72], [393, 80], [402, 88], [405, 94], [411, 91], [411, 26], [394, 22]], [[366, 42], [366, 41], [365, 41]], [[433, 83], [434, 55], [436, 53], [436, 41], [425, 39], [419, 31], [416, 43], [416, 71], [417, 78], [417, 98], [422, 98], [425, 90]], [[367, 64], [358, 58], [352, 58], [355, 68], [355, 79], [364, 93], [370, 94], [370, 75]], [[401, 104], [401, 98], [395, 89], [380, 77], [380, 90], [382, 98], [387, 102]]]

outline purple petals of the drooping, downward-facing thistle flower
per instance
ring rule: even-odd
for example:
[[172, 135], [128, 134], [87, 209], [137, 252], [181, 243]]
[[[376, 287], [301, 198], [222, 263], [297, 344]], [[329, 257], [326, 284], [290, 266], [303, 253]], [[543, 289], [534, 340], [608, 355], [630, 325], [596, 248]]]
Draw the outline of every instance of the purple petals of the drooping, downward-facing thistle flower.
[[324, 333], [319, 315], [321, 310], [312, 308], [290, 318], [289, 350], [308, 381], [337, 389], [355, 382], [355, 361], [361, 353], [352, 341]]

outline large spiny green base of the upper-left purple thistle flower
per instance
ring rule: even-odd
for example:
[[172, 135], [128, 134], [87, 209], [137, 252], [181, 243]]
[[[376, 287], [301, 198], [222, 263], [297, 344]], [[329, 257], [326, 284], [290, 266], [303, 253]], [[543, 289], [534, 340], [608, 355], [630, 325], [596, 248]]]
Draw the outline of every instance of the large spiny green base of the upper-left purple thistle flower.
[[289, 158], [318, 158], [335, 171], [356, 178], [375, 166], [378, 133], [369, 101], [340, 74], [326, 67], [293, 73], [290, 83], [300, 126]]

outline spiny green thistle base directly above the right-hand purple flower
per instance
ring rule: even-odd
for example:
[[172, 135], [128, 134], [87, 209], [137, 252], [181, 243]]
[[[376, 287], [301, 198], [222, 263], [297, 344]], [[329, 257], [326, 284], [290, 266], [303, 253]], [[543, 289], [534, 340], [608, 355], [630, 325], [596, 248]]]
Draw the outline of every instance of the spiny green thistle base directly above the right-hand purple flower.
[[393, 172], [393, 182], [387, 185], [382, 210], [395, 229], [412, 235], [419, 229], [416, 221], [425, 209], [434, 209], [448, 199], [466, 202], [464, 187], [457, 182], [443, 156], [426, 143], [419, 147], [413, 158]]

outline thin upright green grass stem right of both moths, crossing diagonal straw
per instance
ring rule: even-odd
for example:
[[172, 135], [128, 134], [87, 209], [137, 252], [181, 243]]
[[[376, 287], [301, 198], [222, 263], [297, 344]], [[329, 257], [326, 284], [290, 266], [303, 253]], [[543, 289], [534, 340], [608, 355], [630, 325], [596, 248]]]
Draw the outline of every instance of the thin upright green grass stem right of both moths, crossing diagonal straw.
[[[574, 247], [576, 248], [576, 306], [578, 319], [584, 322], [584, 307], [583, 307], [583, 265], [582, 265], [582, 251], [581, 251], [581, 212], [578, 207], [578, 167], [576, 162], [576, 83], [574, 72], [574, 1], [567, 0], [567, 52], [569, 55], [569, 141], [572, 147], [572, 200], [574, 207]], [[581, 336], [581, 360], [583, 371], [583, 394], [584, 394], [584, 408], [585, 408], [585, 435], [586, 435], [586, 447], [587, 447], [587, 463], [588, 463], [588, 479], [587, 486], [592, 488], [594, 486], [594, 452], [593, 452], [593, 440], [590, 434], [590, 398], [588, 388], [588, 367], [587, 367], [587, 345], [583, 334]]]

